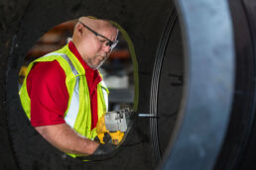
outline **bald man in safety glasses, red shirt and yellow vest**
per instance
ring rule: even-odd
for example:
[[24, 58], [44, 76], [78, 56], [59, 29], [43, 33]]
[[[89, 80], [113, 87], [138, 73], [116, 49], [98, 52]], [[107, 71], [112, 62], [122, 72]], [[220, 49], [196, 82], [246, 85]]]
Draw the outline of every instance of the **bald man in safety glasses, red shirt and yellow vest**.
[[28, 67], [20, 90], [23, 108], [40, 134], [73, 157], [114, 147], [92, 139], [107, 111], [108, 90], [97, 69], [116, 45], [117, 35], [109, 22], [81, 17], [72, 41]]

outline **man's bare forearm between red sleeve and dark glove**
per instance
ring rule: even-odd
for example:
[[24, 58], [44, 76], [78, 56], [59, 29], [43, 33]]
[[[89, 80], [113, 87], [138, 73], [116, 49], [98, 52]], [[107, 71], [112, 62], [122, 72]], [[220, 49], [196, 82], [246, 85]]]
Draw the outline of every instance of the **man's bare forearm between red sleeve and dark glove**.
[[66, 124], [36, 127], [50, 143], [60, 150], [80, 155], [92, 154], [98, 147], [98, 143], [77, 134]]

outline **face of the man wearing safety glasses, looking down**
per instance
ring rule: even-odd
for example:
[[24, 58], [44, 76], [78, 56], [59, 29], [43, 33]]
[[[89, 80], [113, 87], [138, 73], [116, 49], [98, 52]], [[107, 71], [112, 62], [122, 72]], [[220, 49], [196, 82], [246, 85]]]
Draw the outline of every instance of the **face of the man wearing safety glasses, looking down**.
[[81, 55], [83, 55], [83, 59], [92, 69], [98, 69], [102, 65], [102, 63], [108, 58], [112, 48], [110, 45], [107, 44], [107, 42], [115, 42], [118, 34], [117, 30], [112, 26], [99, 29], [96, 33], [100, 34], [106, 39], [101, 36], [96, 36], [90, 30], [87, 30], [86, 35], [82, 40], [84, 51]]

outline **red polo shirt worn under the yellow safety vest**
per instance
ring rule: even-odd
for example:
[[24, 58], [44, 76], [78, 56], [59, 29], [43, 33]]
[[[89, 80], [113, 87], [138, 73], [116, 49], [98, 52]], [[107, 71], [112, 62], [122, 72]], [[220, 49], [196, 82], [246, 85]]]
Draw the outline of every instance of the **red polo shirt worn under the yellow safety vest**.
[[[97, 70], [87, 66], [72, 42], [68, 43], [71, 52], [85, 69], [90, 94], [91, 127], [96, 127], [97, 84], [101, 77]], [[31, 124], [33, 127], [64, 124], [64, 113], [68, 104], [64, 70], [57, 60], [37, 63], [27, 78], [27, 89], [31, 98]]]

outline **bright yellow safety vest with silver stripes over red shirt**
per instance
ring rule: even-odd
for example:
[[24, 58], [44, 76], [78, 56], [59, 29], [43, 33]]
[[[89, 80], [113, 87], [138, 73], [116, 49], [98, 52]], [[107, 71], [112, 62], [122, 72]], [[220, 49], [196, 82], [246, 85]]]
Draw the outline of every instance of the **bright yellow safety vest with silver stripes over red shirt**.
[[[77, 133], [86, 138], [93, 139], [97, 133], [96, 128], [91, 129], [91, 110], [90, 96], [85, 77], [85, 69], [69, 50], [67, 44], [63, 48], [42, 56], [28, 66], [28, 71], [24, 83], [20, 89], [19, 95], [23, 109], [27, 117], [31, 118], [31, 100], [27, 91], [27, 76], [36, 62], [45, 62], [57, 60], [65, 73], [65, 86], [69, 95], [67, 109], [64, 113], [64, 121], [72, 127]], [[108, 108], [108, 89], [104, 82], [97, 85], [97, 109], [98, 118], [107, 112]], [[67, 153], [69, 154], [69, 153]], [[75, 154], [69, 154], [76, 157]]]

